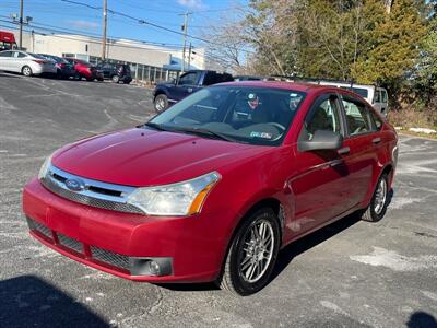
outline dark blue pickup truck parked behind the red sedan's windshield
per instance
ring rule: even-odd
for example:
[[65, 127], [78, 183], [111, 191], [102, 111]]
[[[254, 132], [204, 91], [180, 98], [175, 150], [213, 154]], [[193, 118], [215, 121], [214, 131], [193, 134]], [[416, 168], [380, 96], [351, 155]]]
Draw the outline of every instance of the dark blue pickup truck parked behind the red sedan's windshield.
[[178, 79], [156, 85], [153, 92], [154, 108], [157, 113], [161, 113], [203, 86], [233, 80], [233, 77], [227, 73], [190, 70], [181, 74]]

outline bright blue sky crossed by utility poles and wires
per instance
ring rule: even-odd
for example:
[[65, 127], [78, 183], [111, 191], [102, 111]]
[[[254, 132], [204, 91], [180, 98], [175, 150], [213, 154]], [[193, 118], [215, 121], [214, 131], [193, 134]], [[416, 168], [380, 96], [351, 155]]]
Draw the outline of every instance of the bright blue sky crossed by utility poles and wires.
[[[223, 17], [233, 15], [235, 9], [244, 9], [248, 0], [107, 0], [107, 2], [109, 10], [131, 16], [109, 12], [108, 37], [133, 38], [181, 47], [181, 35], [149, 24], [140, 24], [134, 19], [181, 32], [184, 16], [180, 14], [191, 12], [188, 19], [188, 34], [202, 38], [211, 24], [220, 24]], [[51, 28], [98, 36], [102, 35], [102, 9], [93, 8], [102, 5], [103, 0], [24, 0], [24, 16], [33, 19], [26, 28], [32, 30], [33, 24], [37, 32], [44, 32], [42, 28]], [[11, 26], [5, 21], [10, 22], [10, 16], [14, 13], [20, 13], [20, 0], [0, 0], [0, 30]], [[50, 34], [54, 31], [45, 32]], [[203, 45], [200, 40], [191, 39], [191, 42], [194, 47]]]

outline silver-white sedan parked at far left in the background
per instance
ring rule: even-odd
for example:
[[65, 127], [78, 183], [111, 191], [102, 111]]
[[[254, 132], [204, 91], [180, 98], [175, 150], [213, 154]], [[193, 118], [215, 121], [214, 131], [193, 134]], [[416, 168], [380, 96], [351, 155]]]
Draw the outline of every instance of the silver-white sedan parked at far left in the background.
[[0, 70], [22, 73], [25, 77], [43, 73], [56, 74], [57, 72], [52, 61], [43, 56], [21, 50], [0, 51]]

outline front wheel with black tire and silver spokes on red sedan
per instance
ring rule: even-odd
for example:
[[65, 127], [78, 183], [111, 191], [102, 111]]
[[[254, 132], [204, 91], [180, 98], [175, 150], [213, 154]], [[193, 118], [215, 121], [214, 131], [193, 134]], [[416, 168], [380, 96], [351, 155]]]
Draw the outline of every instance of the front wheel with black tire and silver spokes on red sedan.
[[217, 284], [241, 296], [260, 291], [269, 283], [281, 246], [273, 210], [261, 208], [244, 219], [231, 243]]

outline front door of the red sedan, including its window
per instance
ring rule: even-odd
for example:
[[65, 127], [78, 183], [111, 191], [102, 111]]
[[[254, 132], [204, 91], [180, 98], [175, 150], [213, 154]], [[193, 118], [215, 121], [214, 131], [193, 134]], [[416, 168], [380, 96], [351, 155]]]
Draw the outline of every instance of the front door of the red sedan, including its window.
[[[343, 134], [340, 106], [335, 94], [319, 97], [307, 114], [299, 140], [310, 140], [317, 130]], [[346, 211], [347, 178], [347, 167], [338, 151], [296, 150], [295, 175], [288, 180], [295, 201], [291, 229], [300, 234]]]

